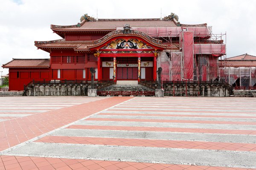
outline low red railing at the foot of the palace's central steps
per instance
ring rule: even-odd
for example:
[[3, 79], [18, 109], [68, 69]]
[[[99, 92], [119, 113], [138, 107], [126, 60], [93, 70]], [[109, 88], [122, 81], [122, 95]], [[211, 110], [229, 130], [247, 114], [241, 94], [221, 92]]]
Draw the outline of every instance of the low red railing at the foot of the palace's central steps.
[[154, 91], [98, 91], [99, 96], [154, 96]]

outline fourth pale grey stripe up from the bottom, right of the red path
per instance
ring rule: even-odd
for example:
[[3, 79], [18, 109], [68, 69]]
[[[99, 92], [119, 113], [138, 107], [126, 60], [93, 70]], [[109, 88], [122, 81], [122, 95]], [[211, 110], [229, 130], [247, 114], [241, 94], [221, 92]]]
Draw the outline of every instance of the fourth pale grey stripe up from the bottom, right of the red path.
[[90, 118], [256, 122], [256, 117], [255, 118], [227, 118], [227, 117], [187, 117], [187, 116], [183, 117], [183, 116], [150, 116], [150, 115], [148, 115], [148, 116], [94, 115]]

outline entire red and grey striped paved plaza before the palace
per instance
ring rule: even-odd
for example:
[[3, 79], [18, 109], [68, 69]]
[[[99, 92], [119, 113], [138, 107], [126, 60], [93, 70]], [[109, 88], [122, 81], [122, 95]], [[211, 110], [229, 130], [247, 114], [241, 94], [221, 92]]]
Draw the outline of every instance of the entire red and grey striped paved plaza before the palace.
[[256, 99], [1, 97], [0, 170], [256, 170]]

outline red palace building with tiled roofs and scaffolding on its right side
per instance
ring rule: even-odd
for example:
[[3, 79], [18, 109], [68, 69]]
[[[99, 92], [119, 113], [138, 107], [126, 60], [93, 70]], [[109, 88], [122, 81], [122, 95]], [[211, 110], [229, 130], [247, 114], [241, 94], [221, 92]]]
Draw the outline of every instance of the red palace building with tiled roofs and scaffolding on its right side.
[[186, 25], [176, 14], [157, 19], [94, 19], [87, 14], [72, 26], [51, 25], [60, 40], [35, 41], [50, 59], [13, 59], [9, 90], [22, 91], [31, 81], [114, 82], [209, 81], [218, 76], [218, 57], [226, 54], [223, 40], [212, 40], [207, 24]]

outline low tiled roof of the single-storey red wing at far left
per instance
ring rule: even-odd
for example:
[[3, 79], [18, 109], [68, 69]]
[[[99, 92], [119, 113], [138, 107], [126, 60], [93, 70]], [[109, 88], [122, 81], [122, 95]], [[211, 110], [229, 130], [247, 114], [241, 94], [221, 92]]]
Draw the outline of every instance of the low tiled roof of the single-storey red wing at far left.
[[12, 59], [3, 68], [49, 68], [50, 59]]

